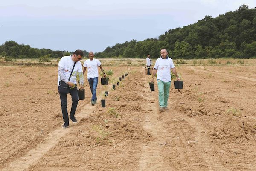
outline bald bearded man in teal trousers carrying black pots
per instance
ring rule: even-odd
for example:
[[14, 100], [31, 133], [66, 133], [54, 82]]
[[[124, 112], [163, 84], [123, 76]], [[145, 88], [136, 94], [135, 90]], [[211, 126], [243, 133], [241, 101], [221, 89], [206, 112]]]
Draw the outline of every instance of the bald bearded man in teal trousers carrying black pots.
[[176, 72], [172, 59], [168, 57], [167, 50], [162, 49], [160, 53], [161, 56], [157, 59], [154, 65], [151, 82], [154, 81], [154, 76], [157, 72], [159, 110], [160, 112], [163, 112], [164, 109], [168, 110], [167, 105], [171, 86], [171, 70], [177, 77], [178, 81], [180, 81], [180, 77]]

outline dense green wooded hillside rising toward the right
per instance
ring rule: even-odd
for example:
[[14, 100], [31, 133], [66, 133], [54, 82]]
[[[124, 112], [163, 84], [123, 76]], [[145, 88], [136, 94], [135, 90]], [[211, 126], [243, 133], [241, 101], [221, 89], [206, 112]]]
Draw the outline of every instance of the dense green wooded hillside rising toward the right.
[[216, 18], [205, 16], [197, 23], [169, 29], [158, 38], [126, 41], [96, 53], [98, 58], [153, 58], [167, 49], [173, 59], [256, 57], [256, 8], [242, 5]]

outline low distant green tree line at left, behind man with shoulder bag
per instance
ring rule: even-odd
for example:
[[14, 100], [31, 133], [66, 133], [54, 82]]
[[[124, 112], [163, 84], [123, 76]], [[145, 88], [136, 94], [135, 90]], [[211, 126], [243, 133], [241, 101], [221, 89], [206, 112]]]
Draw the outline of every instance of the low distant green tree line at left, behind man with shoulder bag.
[[[84, 55], [88, 56], [88, 52], [83, 50]], [[51, 49], [37, 49], [29, 45], [18, 44], [15, 41], [6, 41], [0, 45], [0, 56], [11, 58], [61, 58], [65, 55], [71, 55], [73, 52], [68, 51], [54, 51]]]

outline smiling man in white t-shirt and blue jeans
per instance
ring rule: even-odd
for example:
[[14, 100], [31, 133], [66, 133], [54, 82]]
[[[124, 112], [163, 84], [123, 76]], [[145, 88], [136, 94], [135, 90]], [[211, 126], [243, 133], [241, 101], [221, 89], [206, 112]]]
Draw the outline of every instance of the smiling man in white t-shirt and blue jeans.
[[91, 92], [93, 95], [92, 99], [91, 99], [91, 104], [93, 106], [97, 102], [96, 89], [97, 89], [98, 78], [99, 78], [98, 67], [103, 72], [104, 77], [106, 77], [106, 74], [104, 73], [104, 70], [101, 66], [100, 61], [98, 59], [94, 59], [94, 53], [90, 51], [89, 59], [84, 61], [83, 74], [86, 71], [86, 68], [88, 68], [87, 79], [88, 79], [90, 89], [91, 89]]

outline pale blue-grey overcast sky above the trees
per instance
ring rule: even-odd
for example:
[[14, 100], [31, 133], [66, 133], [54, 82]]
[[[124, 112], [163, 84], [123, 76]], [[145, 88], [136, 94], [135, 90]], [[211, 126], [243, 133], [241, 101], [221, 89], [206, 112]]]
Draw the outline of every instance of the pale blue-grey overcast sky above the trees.
[[1, 0], [0, 45], [13, 40], [39, 49], [101, 52], [243, 4], [255, 8], [256, 0]]

